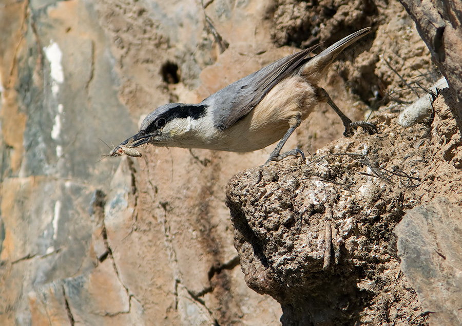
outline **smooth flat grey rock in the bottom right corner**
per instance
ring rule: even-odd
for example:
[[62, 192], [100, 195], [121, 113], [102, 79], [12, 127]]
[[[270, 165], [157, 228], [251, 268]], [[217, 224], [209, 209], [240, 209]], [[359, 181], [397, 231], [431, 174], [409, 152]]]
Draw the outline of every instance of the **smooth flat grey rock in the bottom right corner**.
[[462, 323], [462, 209], [445, 198], [415, 207], [396, 226], [401, 270], [430, 325]]

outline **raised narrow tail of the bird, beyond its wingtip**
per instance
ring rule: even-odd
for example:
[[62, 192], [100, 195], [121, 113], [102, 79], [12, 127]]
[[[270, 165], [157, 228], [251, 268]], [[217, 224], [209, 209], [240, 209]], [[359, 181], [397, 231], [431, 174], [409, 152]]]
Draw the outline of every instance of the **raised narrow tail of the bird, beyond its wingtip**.
[[300, 70], [300, 75], [303, 78], [318, 81], [323, 75], [325, 70], [334, 62], [337, 55], [352, 43], [358, 41], [364, 35], [369, 34], [370, 27], [363, 28], [353, 34], [343, 37], [340, 41], [334, 43], [315, 57], [308, 61]]

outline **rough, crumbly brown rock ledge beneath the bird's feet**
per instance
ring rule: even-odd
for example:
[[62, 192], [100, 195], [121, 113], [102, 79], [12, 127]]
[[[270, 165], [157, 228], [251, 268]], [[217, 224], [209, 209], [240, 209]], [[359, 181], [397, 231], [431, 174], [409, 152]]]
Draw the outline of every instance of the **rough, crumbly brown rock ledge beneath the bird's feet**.
[[[437, 117], [451, 111], [444, 96], [451, 99], [447, 91], [435, 101]], [[460, 205], [462, 175], [444, 155], [446, 136], [438, 134], [450, 129], [455, 117], [406, 130], [397, 124], [396, 113], [380, 112], [372, 121], [378, 135], [357, 133], [324, 146], [307, 162], [249, 169], [228, 184], [245, 280], [281, 303], [284, 325], [424, 325], [430, 312], [440, 313], [430, 319], [434, 325], [438, 320], [459, 323], [460, 208], [451, 203]], [[460, 136], [457, 128], [453, 131]], [[438, 206], [442, 212], [434, 221], [427, 218], [429, 226], [413, 222], [412, 210], [398, 224], [407, 210], [439, 196], [446, 198]], [[455, 213], [443, 213], [451, 209]], [[449, 244], [440, 243], [445, 229], [432, 223], [449, 227]], [[398, 252], [392, 233], [397, 224]], [[432, 241], [440, 243], [435, 250]], [[449, 266], [433, 267], [424, 258], [430, 254], [419, 257], [420, 251], [447, 255]], [[422, 309], [426, 299], [430, 302]]]

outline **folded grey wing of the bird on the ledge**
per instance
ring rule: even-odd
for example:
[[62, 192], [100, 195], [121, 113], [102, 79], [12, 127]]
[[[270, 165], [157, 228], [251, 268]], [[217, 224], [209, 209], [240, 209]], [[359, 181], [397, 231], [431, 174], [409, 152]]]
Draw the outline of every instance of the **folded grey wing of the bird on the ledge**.
[[276, 84], [309, 61], [306, 56], [315, 47], [287, 55], [210, 95], [204, 102], [215, 107], [215, 126], [224, 130], [244, 118]]

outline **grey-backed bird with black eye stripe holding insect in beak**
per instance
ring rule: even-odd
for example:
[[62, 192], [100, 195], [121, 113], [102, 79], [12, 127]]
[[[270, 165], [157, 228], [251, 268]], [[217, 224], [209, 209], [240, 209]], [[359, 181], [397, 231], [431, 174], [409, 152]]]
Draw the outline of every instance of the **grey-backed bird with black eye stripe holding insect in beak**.
[[[352, 122], [318, 82], [337, 55], [371, 31], [363, 28], [315, 56], [313, 48], [287, 55], [211, 94], [198, 104], [169, 103], [148, 114], [140, 131], [113, 152], [144, 144], [166, 147], [205, 148], [249, 152], [279, 143], [265, 164], [289, 155], [303, 156], [299, 149], [280, 154], [294, 130], [320, 102], [327, 102], [343, 122], [343, 135], [358, 126], [371, 135], [377, 128], [365, 121]], [[112, 155], [111, 153], [111, 156]]]

